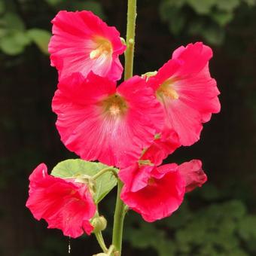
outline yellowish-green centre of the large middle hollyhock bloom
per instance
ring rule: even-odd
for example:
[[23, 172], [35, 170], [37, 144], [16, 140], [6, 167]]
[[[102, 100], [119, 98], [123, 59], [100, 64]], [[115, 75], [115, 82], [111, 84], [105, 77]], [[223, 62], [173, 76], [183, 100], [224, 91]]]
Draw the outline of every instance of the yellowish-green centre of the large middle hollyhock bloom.
[[111, 117], [120, 117], [126, 113], [127, 105], [123, 97], [114, 94], [104, 100], [103, 109]]

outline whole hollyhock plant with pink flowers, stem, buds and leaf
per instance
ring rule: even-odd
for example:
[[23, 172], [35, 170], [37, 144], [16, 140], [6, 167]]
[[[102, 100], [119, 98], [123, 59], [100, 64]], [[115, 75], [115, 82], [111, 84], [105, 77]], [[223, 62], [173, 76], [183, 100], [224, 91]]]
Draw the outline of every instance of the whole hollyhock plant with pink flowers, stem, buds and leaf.
[[[136, 0], [128, 0], [126, 42], [90, 11], [59, 11], [52, 23], [56, 127], [81, 159], [58, 163], [50, 175], [44, 163], [36, 167], [26, 206], [65, 236], [94, 233], [102, 248], [98, 255], [117, 256], [127, 211], [149, 222], [166, 218], [185, 193], [207, 180], [200, 160], [162, 162], [181, 145], [197, 142], [203, 123], [220, 111], [209, 73], [212, 50], [201, 42], [181, 46], [157, 72], [133, 76]], [[122, 53], [124, 81], [117, 85]], [[116, 185], [113, 238], [105, 245], [99, 202]]]

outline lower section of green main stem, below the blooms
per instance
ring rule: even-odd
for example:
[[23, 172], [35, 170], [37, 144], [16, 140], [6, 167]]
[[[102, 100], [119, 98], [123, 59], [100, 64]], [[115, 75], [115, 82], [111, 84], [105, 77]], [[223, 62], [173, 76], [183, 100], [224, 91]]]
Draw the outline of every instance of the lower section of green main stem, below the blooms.
[[118, 180], [117, 184], [117, 203], [114, 210], [114, 227], [113, 227], [113, 237], [112, 245], [114, 245], [115, 251], [118, 251], [120, 256], [122, 249], [122, 238], [123, 238], [123, 219], [126, 213], [125, 205], [122, 200], [120, 200], [120, 192], [123, 187], [122, 181]]

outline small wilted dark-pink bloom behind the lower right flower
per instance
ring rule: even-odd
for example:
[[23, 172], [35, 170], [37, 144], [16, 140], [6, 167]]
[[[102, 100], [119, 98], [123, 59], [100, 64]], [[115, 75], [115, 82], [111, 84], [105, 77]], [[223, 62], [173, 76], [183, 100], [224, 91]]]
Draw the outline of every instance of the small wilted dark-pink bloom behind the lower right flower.
[[207, 176], [203, 172], [202, 162], [200, 160], [191, 160], [178, 166], [178, 171], [186, 181], [186, 192], [194, 190], [196, 187], [202, 187], [207, 181]]

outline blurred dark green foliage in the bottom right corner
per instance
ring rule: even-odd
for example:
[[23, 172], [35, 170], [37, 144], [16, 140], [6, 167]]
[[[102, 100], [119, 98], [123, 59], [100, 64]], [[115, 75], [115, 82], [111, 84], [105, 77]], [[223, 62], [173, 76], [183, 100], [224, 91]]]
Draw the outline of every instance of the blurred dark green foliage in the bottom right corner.
[[[203, 193], [200, 191], [201, 200]], [[241, 200], [209, 201], [199, 209], [184, 202], [171, 218], [154, 224], [142, 222], [136, 215], [128, 216], [127, 221], [126, 241], [135, 248], [154, 249], [159, 256], [256, 254], [256, 215], [249, 214]]]

